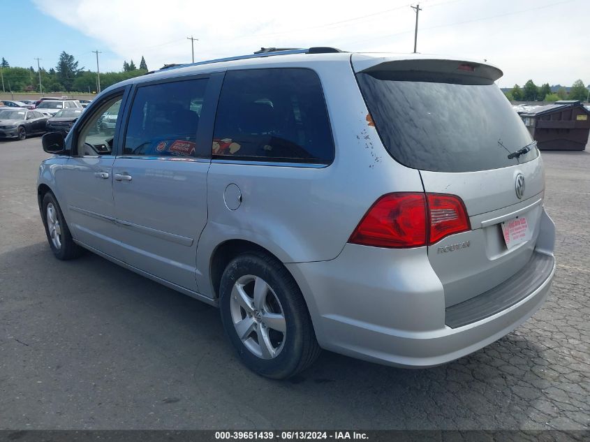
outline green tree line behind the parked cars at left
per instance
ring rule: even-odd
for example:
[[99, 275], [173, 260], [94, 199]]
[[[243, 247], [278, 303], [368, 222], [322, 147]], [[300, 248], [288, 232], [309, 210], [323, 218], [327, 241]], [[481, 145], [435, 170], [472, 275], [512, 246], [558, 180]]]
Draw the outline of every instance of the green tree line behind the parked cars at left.
[[[21, 68], [10, 66], [8, 61], [2, 57], [0, 62], [1, 75], [4, 90], [7, 92], [40, 92], [39, 72], [33, 68]], [[147, 73], [147, 64], [144, 57], [141, 57], [140, 67], [133, 63], [124, 61], [123, 71], [101, 73], [101, 89], [106, 89], [112, 84], [128, 78], [137, 77]], [[79, 67], [78, 61], [73, 55], [61, 52], [57, 65], [50, 68], [40, 68], [41, 84], [43, 92], [96, 92], [96, 72], [84, 67]]]

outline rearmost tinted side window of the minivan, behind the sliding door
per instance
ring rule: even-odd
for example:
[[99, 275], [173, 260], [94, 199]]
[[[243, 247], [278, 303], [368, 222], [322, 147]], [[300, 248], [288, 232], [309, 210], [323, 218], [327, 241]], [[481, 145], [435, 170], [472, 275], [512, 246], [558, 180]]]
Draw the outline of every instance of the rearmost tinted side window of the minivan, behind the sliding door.
[[309, 69], [228, 71], [213, 138], [217, 158], [323, 164], [334, 159], [320, 79]]

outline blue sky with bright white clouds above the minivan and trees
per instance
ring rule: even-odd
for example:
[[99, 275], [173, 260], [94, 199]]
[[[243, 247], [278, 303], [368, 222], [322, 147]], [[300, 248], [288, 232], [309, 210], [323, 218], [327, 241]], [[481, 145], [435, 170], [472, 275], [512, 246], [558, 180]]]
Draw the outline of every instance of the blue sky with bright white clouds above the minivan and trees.
[[[168, 63], [249, 54], [260, 47], [332, 46], [412, 52], [415, 12], [406, 0], [0, 0], [10, 66], [54, 67], [61, 51], [80, 67], [121, 71], [142, 56]], [[412, 3], [415, 4], [415, 3]], [[590, 0], [422, 0], [418, 52], [487, 60], [501, 87], [532, 79], [590, 83]], [[8, 36], [8, 38], [6, 38]], [[8, 44], [9, 43], [9, 44]]]

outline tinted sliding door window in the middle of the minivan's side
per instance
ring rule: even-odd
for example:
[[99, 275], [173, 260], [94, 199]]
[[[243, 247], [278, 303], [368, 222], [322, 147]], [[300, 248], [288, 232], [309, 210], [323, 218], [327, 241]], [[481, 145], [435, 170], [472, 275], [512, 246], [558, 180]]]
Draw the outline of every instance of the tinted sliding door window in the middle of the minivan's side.
[[196, 135], [207, 79], [139, 87], [127, 124], [125, 155], [198, 156]]

